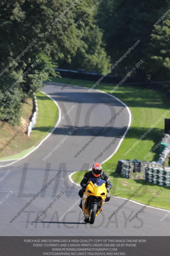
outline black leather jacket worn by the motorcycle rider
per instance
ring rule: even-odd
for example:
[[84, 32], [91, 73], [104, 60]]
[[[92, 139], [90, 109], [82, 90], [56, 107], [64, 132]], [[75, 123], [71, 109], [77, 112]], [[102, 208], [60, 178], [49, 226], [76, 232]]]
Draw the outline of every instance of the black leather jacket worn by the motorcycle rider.
[[[83, 180], [80, 182], [81, 187], [86, 188], [89, 179], [92, 179], [92, 178], [98, 179], [94, 177], [92, 171], [86, 172]], [[110, 182], [109, 176], [107, 175], [107, 173], [101, 172], [99, 178], [106, 181], [106, 189], [107, 191], [109, 191], [112, 188], [112, 183]]]

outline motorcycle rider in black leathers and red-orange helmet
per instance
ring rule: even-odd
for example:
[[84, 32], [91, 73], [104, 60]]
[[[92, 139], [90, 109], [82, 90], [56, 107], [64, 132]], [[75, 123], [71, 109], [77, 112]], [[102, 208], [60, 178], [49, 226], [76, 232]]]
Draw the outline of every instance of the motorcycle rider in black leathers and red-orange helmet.
[[80, 189], [80, 191], [78, 192], [78, 195], [80, 196], [80, 199], [81, 199], [80, 204], [79, 204], [81, 209], [82, 209], [82, 200], [83, 200], [82, 196], [83, 196], [83, 193], [85, 192], [85, 189], [87, 187], [87, 183], [88, 183], [89, 179], [91, 179], [91, 178], [95, 178], [95, 179], [100, 178], [100, 179], [106, 181], [107, 196], [106, 196], [105, 202], [108, 202], [110, 200], [110, 195], [109, 195], [108, 192], [112, 188], [112, 183], [110, 182], [109, 176], [107, 175], [107, 173], [102, 172], [101, 164], [95, 163], [92, 166], [92, 171], [86, 172], [83, 180], [80, 182], [80, 185], [81, 185], [82, 189]]

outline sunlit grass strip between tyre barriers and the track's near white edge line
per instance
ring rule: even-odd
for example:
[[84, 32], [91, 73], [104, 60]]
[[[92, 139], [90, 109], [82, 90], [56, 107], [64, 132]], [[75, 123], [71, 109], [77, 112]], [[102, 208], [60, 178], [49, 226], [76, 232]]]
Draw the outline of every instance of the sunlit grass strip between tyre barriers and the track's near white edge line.
[[[112, 169], [112, 166], [107, 166], [107, 168], [105, 168], [105, 164], [103, 164], [103, 170], [106, 171], [108, 169]], [[80, 184], [85, 172], [86, 171], [74, 173], [72, 175], [72, 179]], [[109, 192], [112, 196], [129, 198], [129, 196], [131, 196], [134, 191], [144, 183], [144, 180], [142, 179], [132, 180], [122, 178], [120, 174], [113, 171], [108, 172], [108, 175], [112, 182], [112, 189]], [[163, 191], [160, 192], [158, 196], [154, 195], [154, 193], [157, 193], [160, 189]], [[148, 182], [147, 185], [138, 191], [137, 195], [131, 198], [131, 200], [141, 204], [147, 204], [147, 202], [152, 199], [152, 196], [155, 196], [155, 199], [152, 199], [150, 206], [170, 210], [169, 189], [170, 187], [158, 186]]]

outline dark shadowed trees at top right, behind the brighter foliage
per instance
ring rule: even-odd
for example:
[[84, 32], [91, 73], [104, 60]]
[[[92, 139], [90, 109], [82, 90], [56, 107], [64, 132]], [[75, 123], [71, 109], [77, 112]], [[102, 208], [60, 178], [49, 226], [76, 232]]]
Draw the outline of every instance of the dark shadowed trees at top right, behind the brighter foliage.
[[[125, 75], [141, 59], [144, 63], [140, 68], [146, 74], [148, 62], [152, 55], [151, 34], [153, 24], [169, 9], [169, 0], [158, 2], [154, 0], [109, 0], [101, 3], [97, 14], [97, 24], [104, 30], [103, 41], [106, 43], [107, 54], [115, 63], [137, 40], [141, 42], [114, 69], [114, 73]], [[103, 13], [103, 16], [102, 16]], [[146, 51], [147, 50], [147, 51]]]

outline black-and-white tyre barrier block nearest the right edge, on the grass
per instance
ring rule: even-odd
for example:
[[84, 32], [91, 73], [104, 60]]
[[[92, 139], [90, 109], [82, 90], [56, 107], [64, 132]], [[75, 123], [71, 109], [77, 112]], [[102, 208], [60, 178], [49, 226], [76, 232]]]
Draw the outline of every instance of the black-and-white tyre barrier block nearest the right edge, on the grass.
[[170, 186], [170, 170], [146, 167], [143, 178], [148, 182], [152, 182], [160, 186]]

